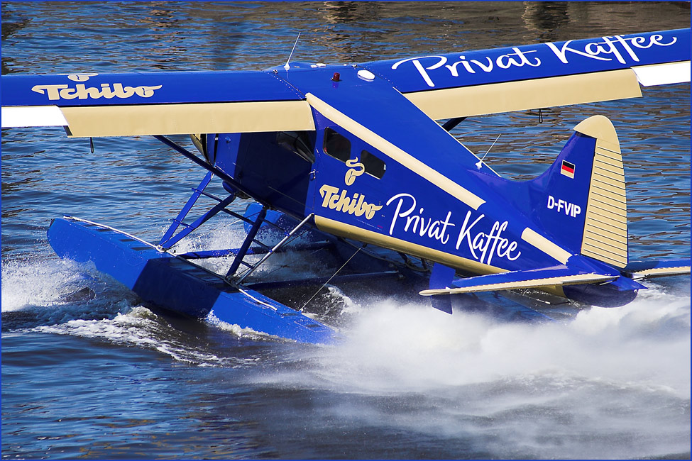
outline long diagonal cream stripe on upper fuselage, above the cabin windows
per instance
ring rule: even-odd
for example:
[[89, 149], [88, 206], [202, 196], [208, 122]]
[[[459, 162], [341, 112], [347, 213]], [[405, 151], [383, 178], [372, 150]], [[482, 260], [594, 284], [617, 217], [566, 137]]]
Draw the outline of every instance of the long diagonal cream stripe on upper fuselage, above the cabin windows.
[[307, 102], [310, 106], [314, 107], [323, 116], [329, 118], [329, 120], [334, 123], [339, 123], [339, 126], [343, 127], [345, 130], [353, 133], [354, 135], [361, 138], [366, 143], [373, 146], [373, 148], [380, 150], [385, 155], [388, 155], [393, 160], [399, 162], [404, 167], [408, 168], [412, 172], [419, 174], [424, 179], [427, 179], [432, 184], [436, 185], [443, 191], [451, 194], [451, 196], [456, 197], [461, 200], [464, 204], [471, 206], [474, 210], [477, 210], [479, 206], [485, 203], [485, 200], [481, 199], [473, 192], [464, 189], [456, 182], [452, 181], [448, 177], [444, 176], [437, 170], [425, 165], [423, 162], [413, 157], [412, 155], [404, 152], [402, 149], [397, 148], [397, 146], [390, 143], [388, 140], [382, 136], [374, 133], [365, 126], [361, 125], [357, 121], [353, 120], [339, 110], [334, 109], [334, 107], [329, 106], [326, 102], [319, 99], [312, 93], [306, 94]]

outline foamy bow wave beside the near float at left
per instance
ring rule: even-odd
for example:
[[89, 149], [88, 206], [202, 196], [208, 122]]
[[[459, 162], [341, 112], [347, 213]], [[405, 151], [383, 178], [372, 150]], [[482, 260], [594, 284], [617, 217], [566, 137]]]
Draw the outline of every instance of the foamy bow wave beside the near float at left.
[[[205, 350], [193, 335], [141, 306], [131, 291], [99, 274], [93, 265], [70, 260], [4, 262], [2, 282], [4, 334], [23, 331], [95, 338], [156, 350], [191, 365], [236, 367], [247, 363]], [[94, 291], [93, 299], [65, 300], [66, 295], [84, 287]], [[238, 338], [251, 333], [229, 331]]]

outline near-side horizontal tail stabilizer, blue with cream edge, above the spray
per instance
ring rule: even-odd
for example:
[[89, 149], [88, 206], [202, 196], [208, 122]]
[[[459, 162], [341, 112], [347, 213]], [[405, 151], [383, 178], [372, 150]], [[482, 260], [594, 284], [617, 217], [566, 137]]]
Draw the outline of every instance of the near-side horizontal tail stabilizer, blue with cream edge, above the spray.
[[420, 292], [423, 296], [438, 294], [475, 293], [479, 291], [498, 291], [507, 289], [542, 288], [560, 285], [588, 284], [610, 282], [617, 275], [596, 274], [575, 270], [566, 266], [547, 267], [538, 270], [517, 270], [500, 274], [480, 275], [465, 279], [455, 279], [452, 287], [427, 289]]

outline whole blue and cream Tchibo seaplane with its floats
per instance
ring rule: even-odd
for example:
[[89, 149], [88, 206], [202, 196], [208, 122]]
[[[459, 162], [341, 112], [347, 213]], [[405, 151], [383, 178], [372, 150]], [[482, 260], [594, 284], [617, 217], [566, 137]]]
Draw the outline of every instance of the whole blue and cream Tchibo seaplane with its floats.
[[[160, 241], [65, 216], [48, 229], [60, 257], [93, 262], [158, 309], [330, 343], [334, 328], [263, 291], [422, 278], [420, 294], [452, 313], [452, 301], [521, 289], [622, 306], [642, 279], [689, 274], [690, 260], [630, 261], [620, 143], [605, 116], [578, 123], [527, 181], [501, 177], [450, 130], [468, 117], [690, 82], [690, 50], [690, 29], [680, 29], [353, 65], [4, 75], [2, 126], [153, 135], [206, 170]], [[181, 134], [199, 152], [170, 138]], [[214, 178], [224, 195], [208, 191]], [[231, 206], [238, 197], [253, 200], [244, 212]], [[188, 218], [200, 198], [211, 205]], [[215, 215], [243, 221], [241, 245], [177, 250]], [[287, 248], [323, 251], [339, 270], [258, 279]], [[224, 270], [205, 266], [210, 258], [225, 258]]]

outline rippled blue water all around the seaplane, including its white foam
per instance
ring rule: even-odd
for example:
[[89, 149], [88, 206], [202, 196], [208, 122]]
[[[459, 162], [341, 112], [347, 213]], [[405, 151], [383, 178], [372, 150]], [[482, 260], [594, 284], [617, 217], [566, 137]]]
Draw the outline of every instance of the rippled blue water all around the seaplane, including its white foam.
[[[263, 69], [689, 26], [689, 4], [2, 4], [2, 72]], [[620, 136], [631, 257], [690, 252], [690, 87], [486, 116], [454, 134], [526, 178], [596, 113]], [[187, 143], [184, 137], [177, 138]], [[63, 214], [157, 240], [204, 176], [148, 138], [2, 131], [2, 457], [690, 456], [689, 277], [552, 326], [329, 287], [346, 335], [296, 345], [157, 315], [45, 240]], [[238, 207], [244, 206], [243, 203]], [[190, 245], [241, 238], [213, 223]], [[320, 274], [319, 265], [282, 260]], [[84, 287], [95, 299], [66, 299]], [[297, 298], [304, 296], [296, 294]], [[303, 298], [304, 299], [304, 298]]]

